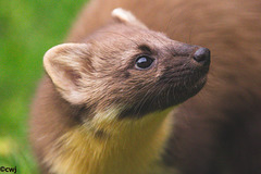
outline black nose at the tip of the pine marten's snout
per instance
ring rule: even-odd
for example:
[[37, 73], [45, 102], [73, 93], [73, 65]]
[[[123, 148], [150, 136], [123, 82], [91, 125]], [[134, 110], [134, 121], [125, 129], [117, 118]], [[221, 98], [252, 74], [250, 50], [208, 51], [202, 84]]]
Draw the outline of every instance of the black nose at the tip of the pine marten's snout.
[[194, 53], [194, 60], [207, 65], [210, 63], [210, 50], [208, 48], [199, 48], [195, 53]]

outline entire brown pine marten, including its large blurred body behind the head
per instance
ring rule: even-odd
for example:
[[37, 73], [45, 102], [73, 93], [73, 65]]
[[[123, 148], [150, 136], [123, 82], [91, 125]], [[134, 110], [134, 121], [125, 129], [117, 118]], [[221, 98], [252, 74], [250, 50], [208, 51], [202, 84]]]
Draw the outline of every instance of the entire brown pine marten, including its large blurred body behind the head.
[[261, 173], [260, 3], [90, 1], [44, 58], [42, 173]]

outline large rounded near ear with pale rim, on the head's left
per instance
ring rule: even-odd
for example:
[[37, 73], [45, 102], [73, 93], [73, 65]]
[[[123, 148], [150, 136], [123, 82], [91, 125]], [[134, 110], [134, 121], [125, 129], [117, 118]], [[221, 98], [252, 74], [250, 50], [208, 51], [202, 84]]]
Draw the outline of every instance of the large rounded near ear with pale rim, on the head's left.
[[62, 97], [72, 104], [85, 101], [80, 79], [90, 64], [88, 52], [88, 45], [63, 44], [51, 48], [44, 57], [47, 74]]

